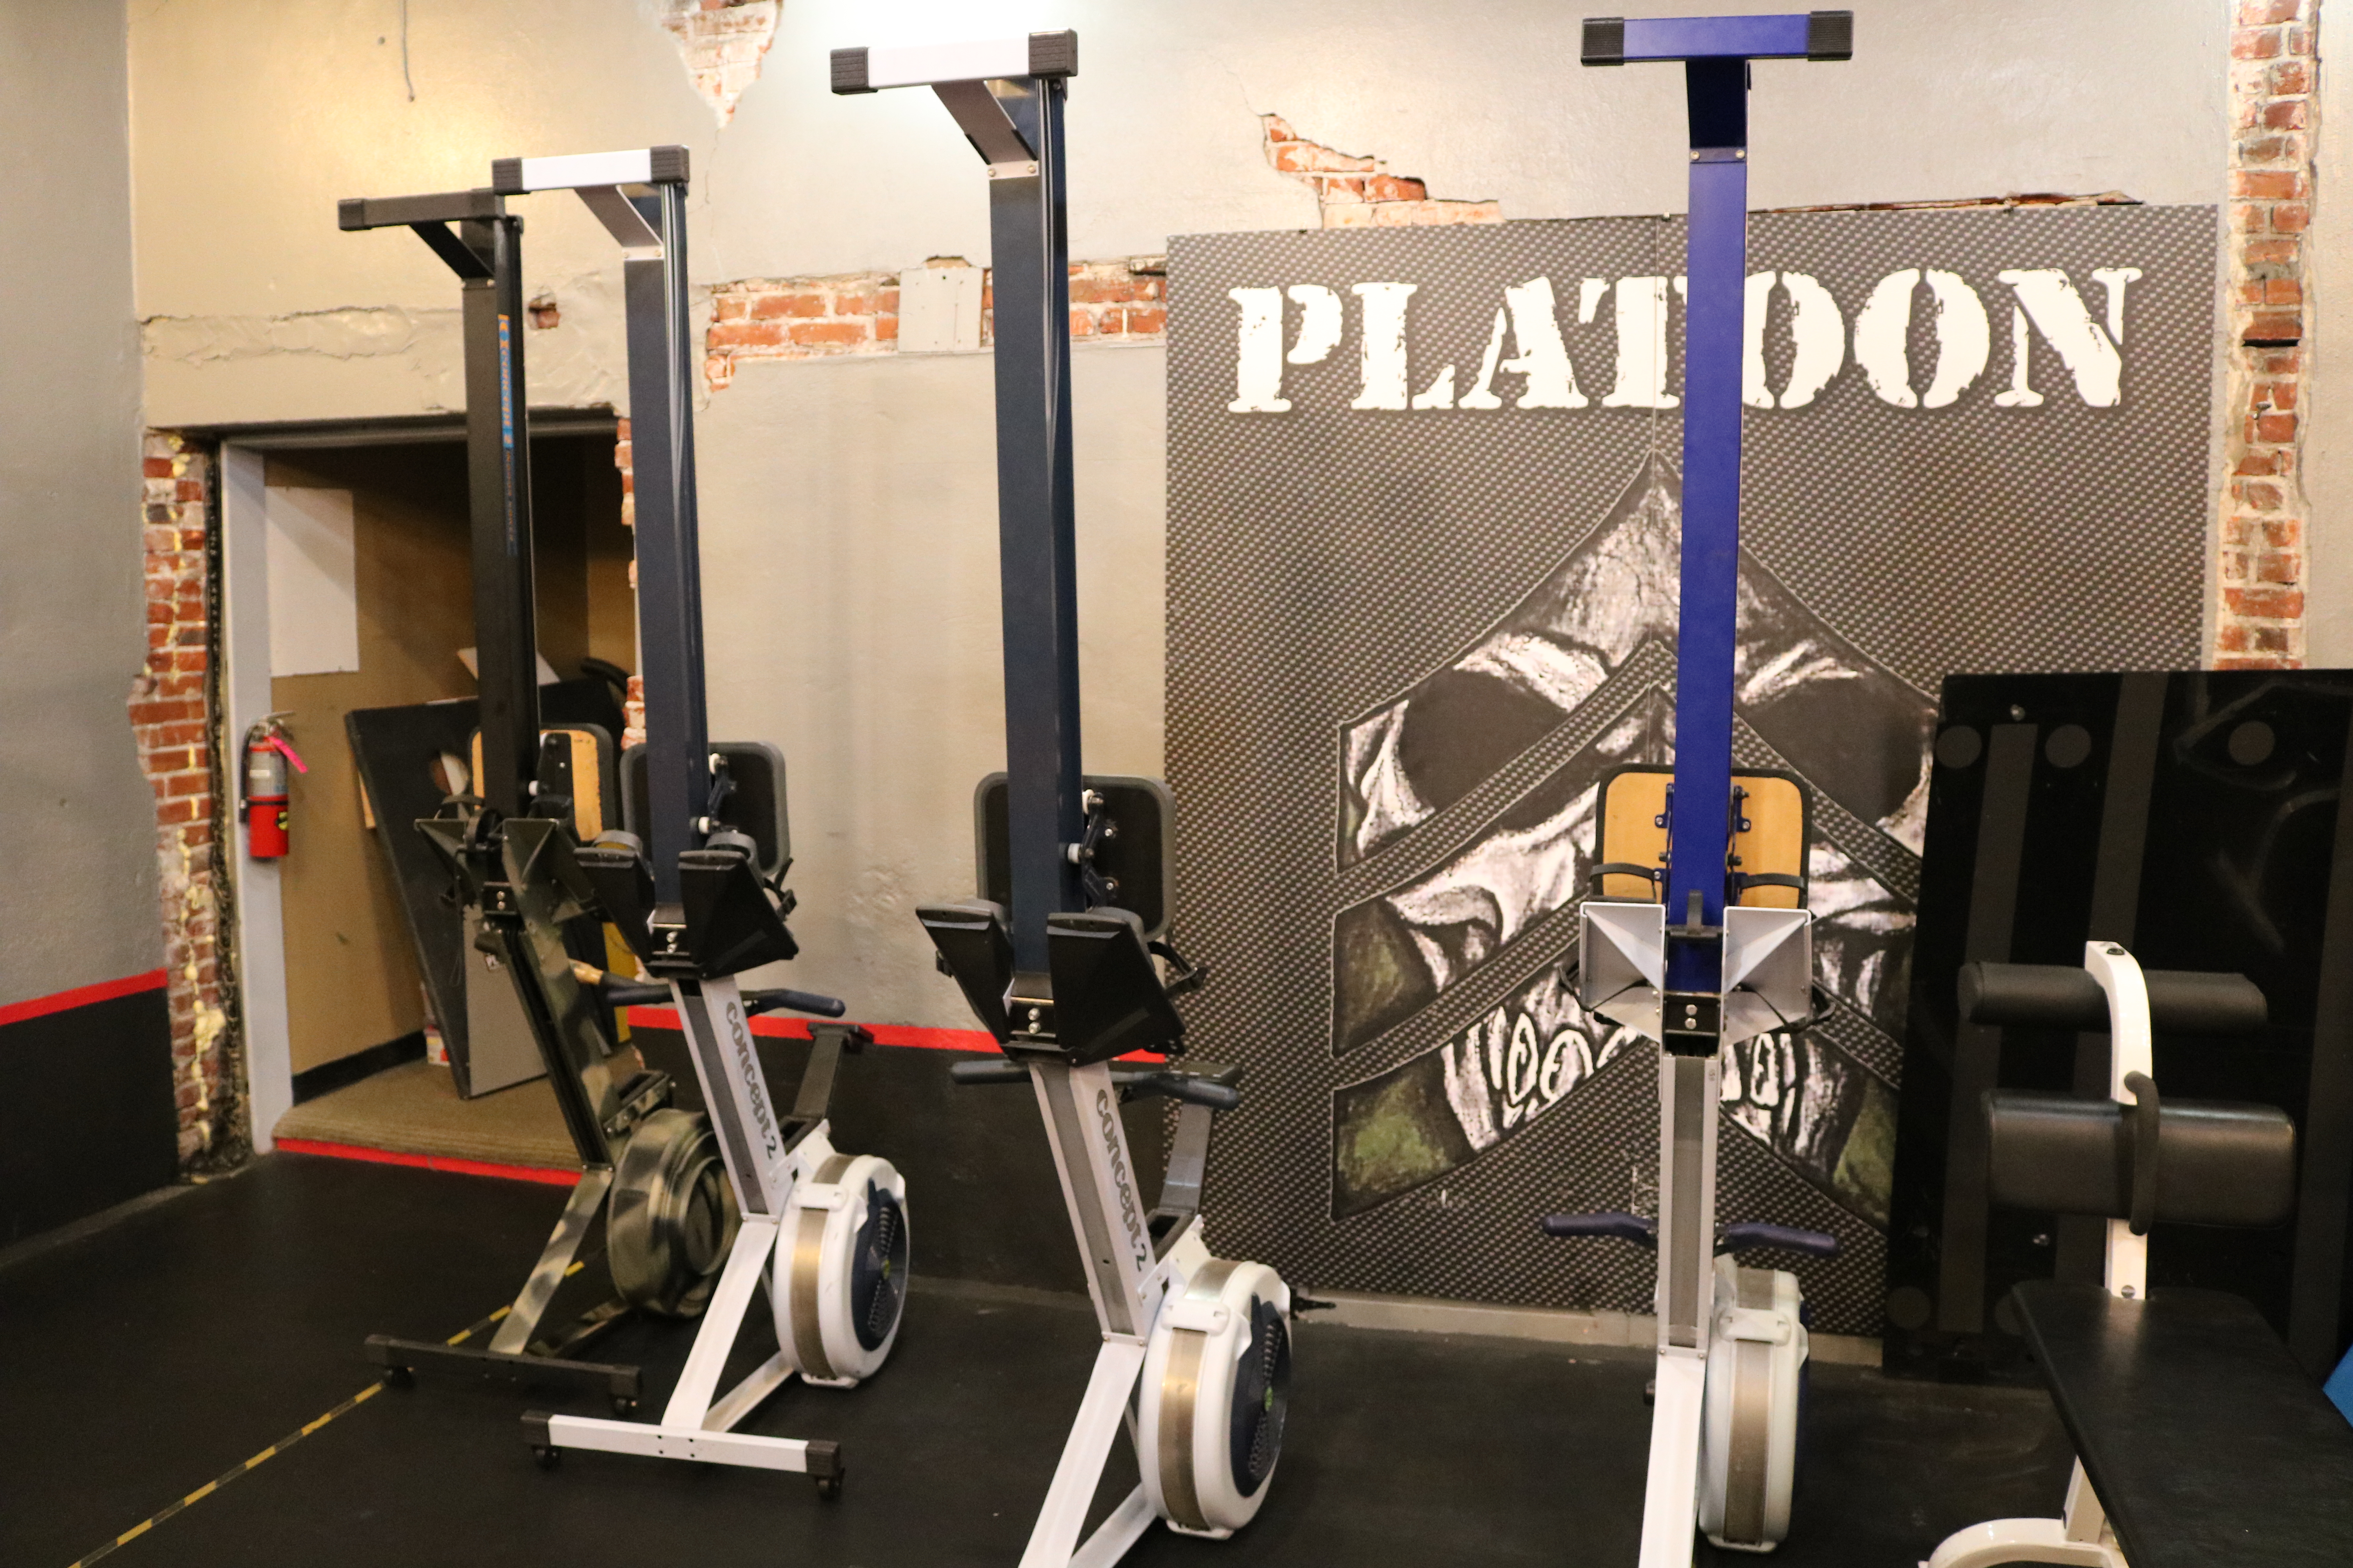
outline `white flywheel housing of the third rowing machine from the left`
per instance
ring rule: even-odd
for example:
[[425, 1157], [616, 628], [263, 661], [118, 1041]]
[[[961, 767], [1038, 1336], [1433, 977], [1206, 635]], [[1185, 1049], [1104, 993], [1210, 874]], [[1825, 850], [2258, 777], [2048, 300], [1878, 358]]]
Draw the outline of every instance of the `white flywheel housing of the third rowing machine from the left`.
[[1144, 1356], [1144, 1493], [1174, 1530], [1233, 1535], [1266, 1502], [1292, 1394], [1292, 1288], [1212, 1258], [1176, 1288]]

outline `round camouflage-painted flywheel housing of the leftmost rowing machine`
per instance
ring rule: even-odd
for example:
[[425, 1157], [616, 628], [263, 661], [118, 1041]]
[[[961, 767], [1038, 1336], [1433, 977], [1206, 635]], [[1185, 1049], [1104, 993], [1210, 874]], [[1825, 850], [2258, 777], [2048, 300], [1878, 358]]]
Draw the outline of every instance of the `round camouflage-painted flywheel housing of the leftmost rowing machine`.
[[605, 1227], [621, 1300], [661, 1316], [701, 1314], [736, 1234], [734, 1185], [708, 1117], [664, 1107], [631, 1128]]

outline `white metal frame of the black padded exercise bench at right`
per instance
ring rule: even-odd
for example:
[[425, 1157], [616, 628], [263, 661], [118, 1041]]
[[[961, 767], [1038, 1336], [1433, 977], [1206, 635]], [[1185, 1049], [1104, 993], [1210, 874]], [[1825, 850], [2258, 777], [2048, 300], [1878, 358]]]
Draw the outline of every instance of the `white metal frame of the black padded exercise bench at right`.
[[[2141, 964], [2118, 943], [2085, 943], [2082, 966], [2108, 997], [2108, 1098], [2139, 1105], [2125, 1088], [2134, 1072], [2155, 1074], [2148, 1025], [2148, 983]], [[2132, 1220], [2108, 1220], [2106, 1272], [2108, 1295], [2137, 1300], [2148, 1295], [2148, 1237], [2132, 1234]], [[2068, 1563], [2073, 1568], [2127, 1568], [2125, 1552], [2108, 1528], [2108, 1512], [2092, 1490], [2092, 1479], [2075, 1460], [2066, 1483], [2059, 1519], [1988, 1519], [1953, 1530], [1937, 1544], [1922, 1568], [1995, 1568], [1998, 1563]]]

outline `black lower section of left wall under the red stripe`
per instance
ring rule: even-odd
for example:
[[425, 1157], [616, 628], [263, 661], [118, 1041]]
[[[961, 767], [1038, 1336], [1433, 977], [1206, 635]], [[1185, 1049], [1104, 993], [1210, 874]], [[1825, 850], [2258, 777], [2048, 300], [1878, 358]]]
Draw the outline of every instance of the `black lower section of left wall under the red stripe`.
[[179, 1175], [162, 987], [0, 1025], [0, 1246]]

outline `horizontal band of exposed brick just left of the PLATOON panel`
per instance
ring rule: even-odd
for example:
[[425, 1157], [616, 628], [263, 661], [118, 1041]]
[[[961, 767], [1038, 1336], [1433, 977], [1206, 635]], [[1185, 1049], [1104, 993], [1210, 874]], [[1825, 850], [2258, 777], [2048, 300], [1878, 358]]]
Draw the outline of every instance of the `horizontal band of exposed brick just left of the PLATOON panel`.
[[[929, 266], [965, 266], [934, 256]], [[1071, 336], [1160, 341], [1167, 336], [1167, 256], [1071, 263]], [[981, 273], [981, 346], [995, 341], [995, 289]], [[899, 273], [744, 277], [711, 289], [704, 378], [734, 381], [746, 360], [824, 360], [899, 350]]]

